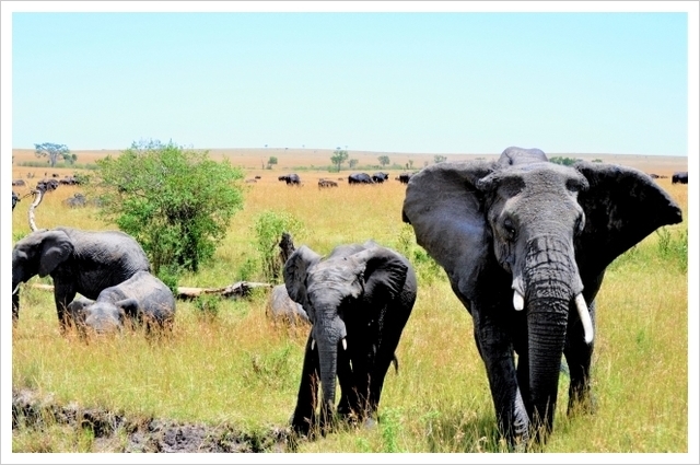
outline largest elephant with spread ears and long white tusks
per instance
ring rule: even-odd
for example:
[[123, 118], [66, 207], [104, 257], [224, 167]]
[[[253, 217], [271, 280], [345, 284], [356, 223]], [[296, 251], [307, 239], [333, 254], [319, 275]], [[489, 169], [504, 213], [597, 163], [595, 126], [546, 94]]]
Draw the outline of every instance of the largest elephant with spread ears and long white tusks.
[[592, 408], [594, 345], [582, 322], [593, 337], [605, 269], [657, 228], [681, 221], [678, 206], [644, 173], [562, 166], [518, 148], [493, 163], [422, 170], [408, 183], [402, 214], [474, 318], [498, 425], [511, 445], [551, 432], [562, 353], [569, 412], [575, 404]]

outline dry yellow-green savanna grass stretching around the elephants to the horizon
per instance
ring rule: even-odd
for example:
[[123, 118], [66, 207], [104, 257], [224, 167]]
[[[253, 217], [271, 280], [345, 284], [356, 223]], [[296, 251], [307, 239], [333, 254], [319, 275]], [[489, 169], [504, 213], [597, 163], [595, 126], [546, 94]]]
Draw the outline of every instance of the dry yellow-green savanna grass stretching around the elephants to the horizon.
[[[349, 150], [360, 170], [378, 171], [377, 153]], [[118, 151], [75, 152], [78, 163]], [[36, 178], [73, 167], [21, 165], [36, 162], [33, 151], [13, 151], [13, 178]], [[252, 230], [264, 211], [284, 212], [303, 228], [293, 237], [327, 254], [342, 243], [372, 239], [415, 261], [419, 291], [397, 350], [398, 373], [387, 374], [380, 423], [370, 430], [332, 433], [302, 442], [298, 452], [501, 452], [486, 371], [477, 353], [471, 318], [452, 292], [444, 272], [416, 245], [410, 226], [401, 222], [405, 185], [395, 181], [412, 162], [415, 170], [433, 154], [392, 154], [402, 170], [389, 170], [389, 181], [376, 186], [349, 186], [350, 170], [329, 173], [332, 150], [211, 150], [228, 156], [246, 179], [245, 207], [231, 222], [214, 259], [183, 287], [224, 287], [246, 277], [259, 280], [254, 267]], [[278, 156], [272, 170], [264, 167]], [[551, 154], [550, 154], [551, 156]], [[597, 298], [593, 385], [595, 415], [565, 415], [568, 377], [560, 376], [555, 432], [544, 452], [674, 452], [688, 451], [688, 276], [687, 185], [672, 185], [687, 160], [662, 156], [595, 155], [648, 173], [668, 176], [657, 183], [681, 206], [684, 222], [664, 228], [619, 257], [609, 268]], [[448, 161], [498, 155], [447, 155]], [[302, 187], [287, 186], [277, 176], [296, 171]], [[386, 170], [385, 170], [386, 171]], [[337, 188], [319, 189], [317, 179], [338, 179]], [[340, 179], [342, 178], [342, 179]], [[36, 179], [30, 179], [36, 181]], [[33, 185], [33, 183], [30, 183]], [[30, 187], [15, 188], [20, 195]], [[68, 225], [103, 230], [93, 207], [69, 209], [63, 199], [83, 186], [59, 186], [35, 211], [38, 228]], [[13, 242], [30, 232], [23, 199], [12, 213]], [[9, 248], [10, 244], [5, 244]], [[685, 247], [685, 248], [684, 248]], [[252, 272], [253, 269], [253, 272]], [[5, 278], [8, 279], [8, 278]], [[178, 301], [171, 338], [149, 341], [141, 334], [84, 342], [61, 335], [52, 293], [34, 287], [50, 279], [33, 278], [21, 289], [21, 315], [12, 332], [13, 391], [32, 390], [51, 402], [104, 408], [135, 418], [166, 418], [203, 423], [213, 430], [233, 425], [259, 434], [284, 428], [295, 405], [306, 328], [290, 328], [266, 316], [267, 290], [248, 299], [222, 300], [205, 314], [196, 301]], [[9, 297], [8, 297], [9, 300]], [[3, 322], [10, 322], [7, 309]], [[127, 431], [108, 442], [85, 429], [58, 421], [13, 429], [13, 452], [121, 452]], [[285, 450], [288, 451], [288, 450]]]

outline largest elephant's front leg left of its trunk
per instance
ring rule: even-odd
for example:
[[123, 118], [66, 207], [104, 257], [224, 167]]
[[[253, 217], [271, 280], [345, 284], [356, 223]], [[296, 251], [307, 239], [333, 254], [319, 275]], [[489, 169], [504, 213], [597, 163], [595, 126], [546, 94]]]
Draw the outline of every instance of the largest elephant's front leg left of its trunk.
[[495, 417], [510, 446], [529, 441], [529, 417], [517, 385], [513, 345], [494, 317], [472, 307], [475, 339], [486, 365]]

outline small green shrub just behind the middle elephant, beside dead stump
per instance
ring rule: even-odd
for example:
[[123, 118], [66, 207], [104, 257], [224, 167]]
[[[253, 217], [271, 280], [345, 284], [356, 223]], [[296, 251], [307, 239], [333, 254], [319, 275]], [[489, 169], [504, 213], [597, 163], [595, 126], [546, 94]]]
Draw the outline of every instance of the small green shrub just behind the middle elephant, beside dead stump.
[[269, 282], [278, 282], [282, 263], [279, 260], [278, 244], [283, 232], [296, 235], [303, 229], [301, 220], [288, 212], [262, 211], [255, 219], [255, 248], [262, 266], [262, 277]]

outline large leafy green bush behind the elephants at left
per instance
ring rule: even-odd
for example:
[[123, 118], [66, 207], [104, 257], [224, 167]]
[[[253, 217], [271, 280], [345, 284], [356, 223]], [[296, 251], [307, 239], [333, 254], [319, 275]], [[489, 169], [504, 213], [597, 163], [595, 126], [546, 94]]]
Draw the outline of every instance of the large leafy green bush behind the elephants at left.
[[243, 172], [208, 151], [141, 141], [96, 163], [101, 214], [143, 246], [155, 275], [197, 271], [243, 208]]

